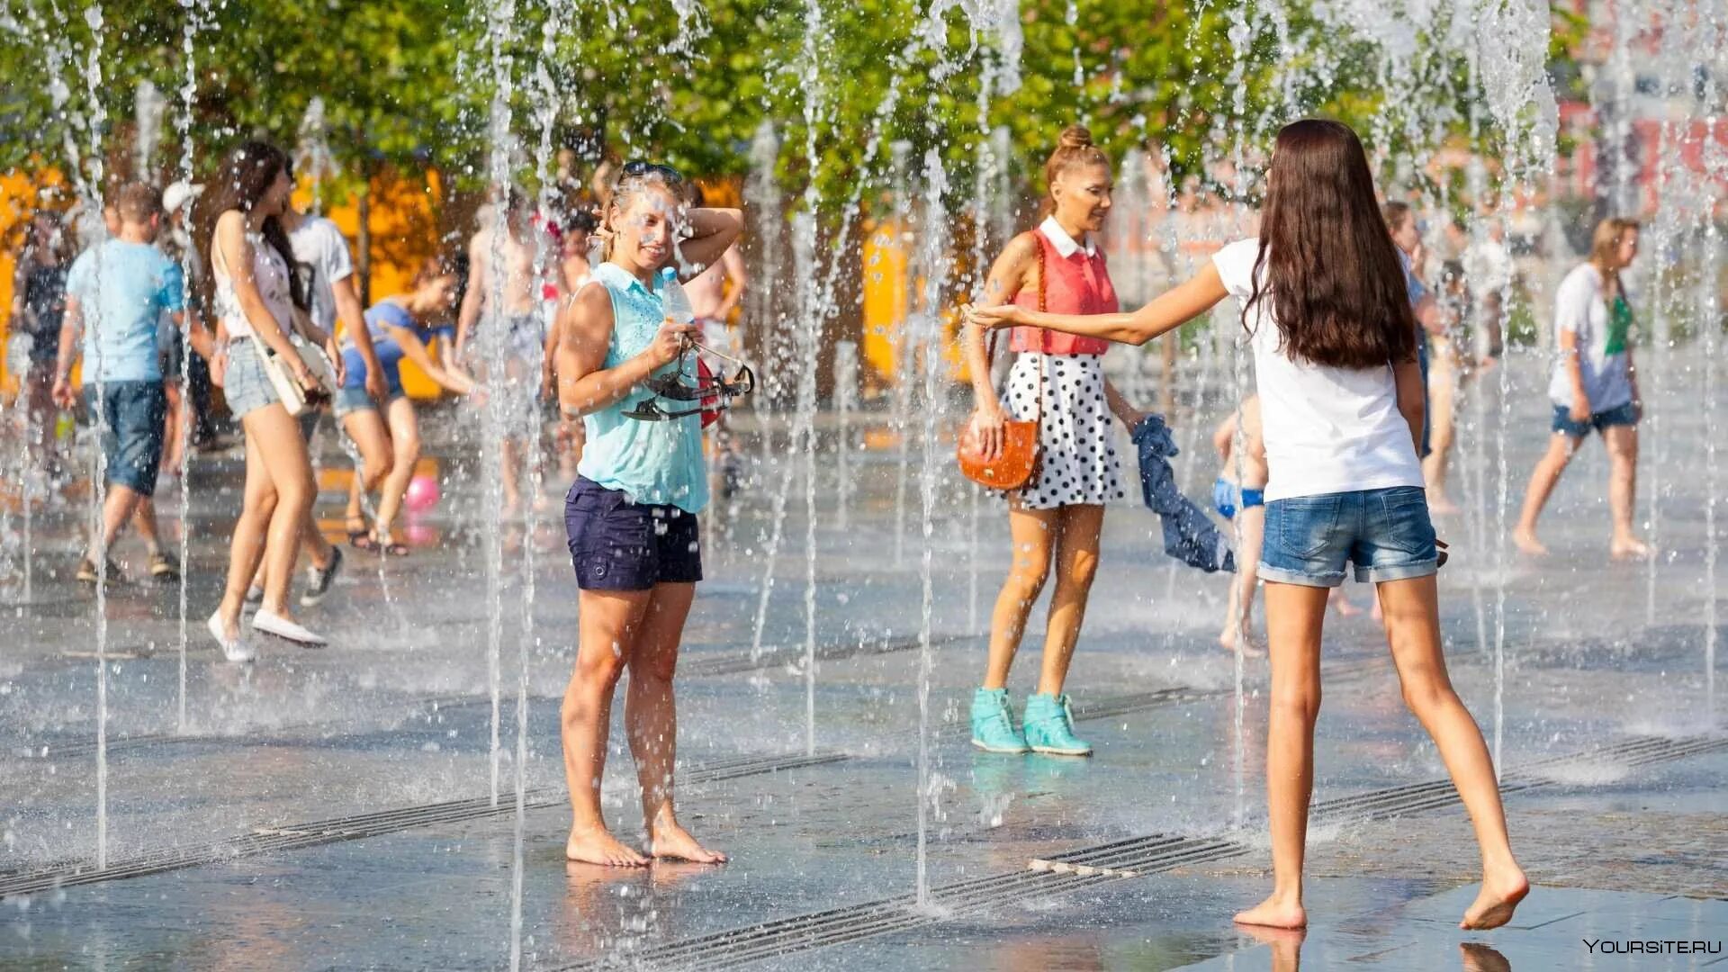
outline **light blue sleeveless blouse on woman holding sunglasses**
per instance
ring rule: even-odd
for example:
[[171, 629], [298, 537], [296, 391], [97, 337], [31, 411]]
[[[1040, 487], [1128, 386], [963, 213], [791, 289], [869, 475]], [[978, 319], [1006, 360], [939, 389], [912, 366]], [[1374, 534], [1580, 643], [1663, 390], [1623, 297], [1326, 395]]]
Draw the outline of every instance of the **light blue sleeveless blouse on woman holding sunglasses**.
[[[660, 289], [646, 287], [629, 270], [601, 263], [594, 280], [612, 296], [612, 344], [603, 368], [615, 368], [653, 344], [665, 322]], [[655, 374], [672, 374], [665, 365]], [[696, 382], [695, 355], [684, 358], [684, 384]], [[645, 398], [646, 387], [634, 387], [624, 400], [582, 417], [588, 446], [577, 472], [607, 489], [622, 489], [632, 503], [677, 507], [700, 514], [708, 505], [708, 476], [702, 458], [702, 417], [686, 415], [669, 422], [626, 419]], [[665, 412], [695, 408], [695, 401], [658, 400]]]

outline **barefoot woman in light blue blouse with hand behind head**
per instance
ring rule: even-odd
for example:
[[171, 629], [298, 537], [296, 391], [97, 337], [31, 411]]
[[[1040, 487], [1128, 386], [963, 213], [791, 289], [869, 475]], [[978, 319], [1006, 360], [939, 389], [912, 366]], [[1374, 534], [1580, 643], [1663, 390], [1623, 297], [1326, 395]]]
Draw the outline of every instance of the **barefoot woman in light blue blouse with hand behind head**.
[[696, 380], [695, 323], [674, 322], [665, 296], [674, 268], [695, 275], [738, 239], [738, 209], [689, 209], [684, 180], [626, 163], [607, 197], [607, 261], [563, 303], [556, 355], [558, 406], [581, 419], [588, 444], [565, 496], [570, 564], [581, 588], [575, 671], [563, 695], [563, 766], [570, 785], [565, 858], [643, 866], [648, 858], [607, 828], [600, 778], [612, 695], [626, 669], [624, 730], [636, 758], [648, 854], [722, 863], [677, 822], [677, 669], [684, 621], [702, 579], [696, 515], [708, 503], [702, 419], [660, 398], [665, 382]]

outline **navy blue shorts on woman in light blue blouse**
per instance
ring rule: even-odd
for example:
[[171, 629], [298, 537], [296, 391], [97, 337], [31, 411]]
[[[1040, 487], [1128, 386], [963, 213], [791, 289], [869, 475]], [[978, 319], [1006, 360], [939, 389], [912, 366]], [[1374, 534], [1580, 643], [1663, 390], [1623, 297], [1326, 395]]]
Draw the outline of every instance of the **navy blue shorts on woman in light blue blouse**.
[[650, 590], [702, 579], [696, 514], [677, 507], [632, 503], [622, 489], [577, 476], [563, 498], [575, 586]]

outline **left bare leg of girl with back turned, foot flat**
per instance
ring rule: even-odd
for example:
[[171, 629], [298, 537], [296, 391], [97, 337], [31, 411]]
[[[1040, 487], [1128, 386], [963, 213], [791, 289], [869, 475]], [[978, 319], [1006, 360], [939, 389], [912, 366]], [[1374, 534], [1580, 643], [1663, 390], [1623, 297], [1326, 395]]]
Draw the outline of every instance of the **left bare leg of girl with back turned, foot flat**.
[[1313, 721], [1320, 716], [1320, 628], [1325, 588], [1267, 583], [1272, 713], [1267, 718], [1267, 808], [1272, 816], [1272, 896], [1236, 915], [1244, 925], [1299, 929], [1301, 868], [1313, 796]]

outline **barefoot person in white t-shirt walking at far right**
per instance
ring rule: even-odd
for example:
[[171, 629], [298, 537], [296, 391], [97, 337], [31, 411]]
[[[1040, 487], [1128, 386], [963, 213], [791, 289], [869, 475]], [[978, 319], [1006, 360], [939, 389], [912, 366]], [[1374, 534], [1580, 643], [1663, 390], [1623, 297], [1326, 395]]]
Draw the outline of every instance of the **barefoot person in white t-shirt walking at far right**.
[[1585, 438], [1595, 429], [1609, 448], [1609, 510], [1614, 515], [1612, 557], [1649, 557], [1631, 529], [1633, 495], [1638, 488], [1638, 372], [1631, 363], [1631, 304], [1621, 285], [1621, 270], [1638, 256], [1638, 223], [1602, 220], [1590, 240], [1590, 259], [1560, 280], [1553, 294], [1553, 332], [1560, 358], [1553, 363], [1548, 400], [1553, 403], [1553, 436], [1548, 451], [1529, 474], [1524, 512], [1512, 540], [1526, 553], [1543, 555], [1536, 519], [1553, 486], [1572, 462]]

